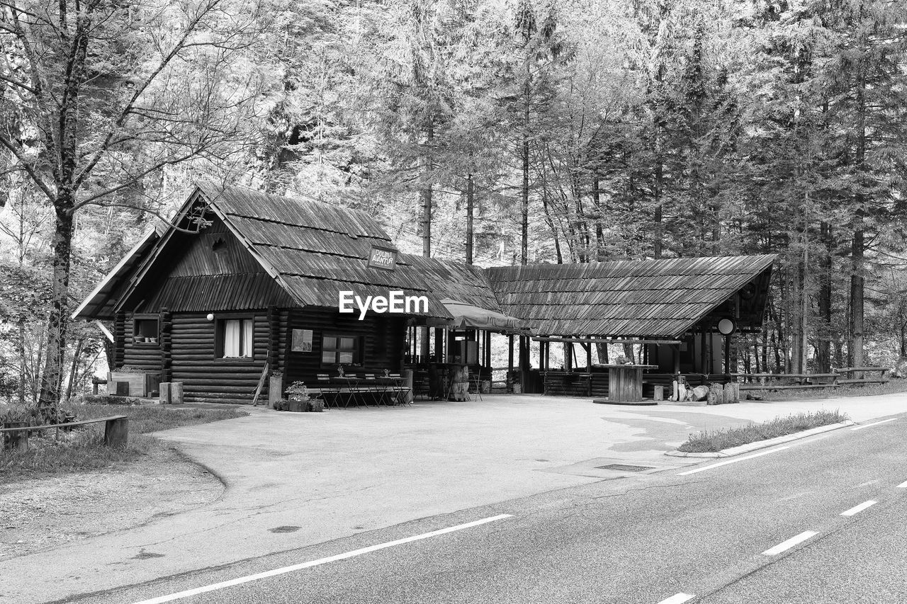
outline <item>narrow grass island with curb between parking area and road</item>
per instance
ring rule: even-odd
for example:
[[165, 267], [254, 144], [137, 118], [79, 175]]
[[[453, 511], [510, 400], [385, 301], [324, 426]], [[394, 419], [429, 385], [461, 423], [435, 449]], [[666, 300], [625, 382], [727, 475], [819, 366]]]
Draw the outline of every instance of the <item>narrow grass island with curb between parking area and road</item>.
[[690, 434], [686, 443], [678, 447], [683, 453], [717, 453], [741, 444], [767, 441], [777, 436], [795, 434], [821, 425], [839, 424], [846, 421], [847, 414], [834, 411], [813, 411], [793, 414], [787, 417], [775, 417], [761, 424], [748, 424], [737, 428], [705, 430], [699, 434]]

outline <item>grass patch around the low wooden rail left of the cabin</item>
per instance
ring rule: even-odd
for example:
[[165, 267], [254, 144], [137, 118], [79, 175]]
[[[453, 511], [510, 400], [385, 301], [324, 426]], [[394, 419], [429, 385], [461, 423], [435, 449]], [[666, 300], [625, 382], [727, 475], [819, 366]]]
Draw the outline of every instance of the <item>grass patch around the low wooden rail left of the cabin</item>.
[[0, 451], [0, 483], [67, 472], [83, 472], [130, 463], [163, 446], [147, 434], [185, 425], [209, 424], [248, 415], [236, 407], [162, 407], [159, 405], [76, 404], [79, 419], [108, 415], [129, 416], [129, 444], [104, 445], [104, 424], [90, 424], [71, 432], [43, 430], [28, 441], [28, 451]]

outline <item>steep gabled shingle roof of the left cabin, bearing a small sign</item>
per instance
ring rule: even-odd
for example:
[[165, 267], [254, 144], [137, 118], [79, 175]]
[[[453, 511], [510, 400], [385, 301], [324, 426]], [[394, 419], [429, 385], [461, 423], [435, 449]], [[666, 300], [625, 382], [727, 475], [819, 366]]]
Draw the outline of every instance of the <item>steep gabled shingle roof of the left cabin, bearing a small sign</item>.
[[[373, 245], [392, 250], [396, 247], [364, 211], [200, 184], [183, 204], [176, 223], [189, 228], [187, 214], [202, 204], [207, 206], [206, 211], [223, 220], [270, 278], [299, 306], [337, 307], [339, 290], [352, 290], [360, 297], [386, 297], [389, 290], [399, 289], [407, 296], [428, 299], [428, 312], [421, 313], [424, 317], [452, 318], [441, 303], [444, 296], [434, 292], [411, 262], [398, 262], [394, 270], [368, 267]], [[73, 317], [111, 318], [114, 305], [141, 281], [142, 271], [166, 248], [174, 232], [171, 227], [142, 238]]]

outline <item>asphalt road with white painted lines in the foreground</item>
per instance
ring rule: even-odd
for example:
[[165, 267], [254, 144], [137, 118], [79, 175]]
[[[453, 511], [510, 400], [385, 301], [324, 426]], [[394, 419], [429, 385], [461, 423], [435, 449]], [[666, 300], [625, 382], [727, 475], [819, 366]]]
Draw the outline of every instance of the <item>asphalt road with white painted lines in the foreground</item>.
[[[612, 480], [68, 601], [900, 604], [905, 430], [900, 416], [717, 467], [707, 460], [615, 472]], [[775, 553], [797, 536], [804, 541]], [[306, 568], [287, 570], [298, 565]], [[248, 579], [257, 573], [273, 574]], [[238, 584], [199, 593], [223, 581]], [[186, 590], [193, 595], [173, 597]]]

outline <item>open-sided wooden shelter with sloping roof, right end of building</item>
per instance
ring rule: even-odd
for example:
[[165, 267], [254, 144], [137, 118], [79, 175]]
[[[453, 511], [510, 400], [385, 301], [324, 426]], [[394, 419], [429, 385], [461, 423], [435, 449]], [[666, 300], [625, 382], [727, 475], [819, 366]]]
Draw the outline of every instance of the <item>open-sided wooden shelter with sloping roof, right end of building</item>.
[[[551, 342], [580, 343], [589, 357], [595, 342], [630, 342], [642, 346], [642, 362], [651, 366], [650, 392], [673, 375], [697, 384], [728, 373], [730, 336], [762, 328], [775, 258], [617, 260], [489, 268], [486, 274], [502, 311], [532, 329], [542, 365]], [[585, 387], [604, 395], [608, 372], [590, 365], [590, 385], [559, 377], [560, 384], [550, 381], [546, 390]]]

